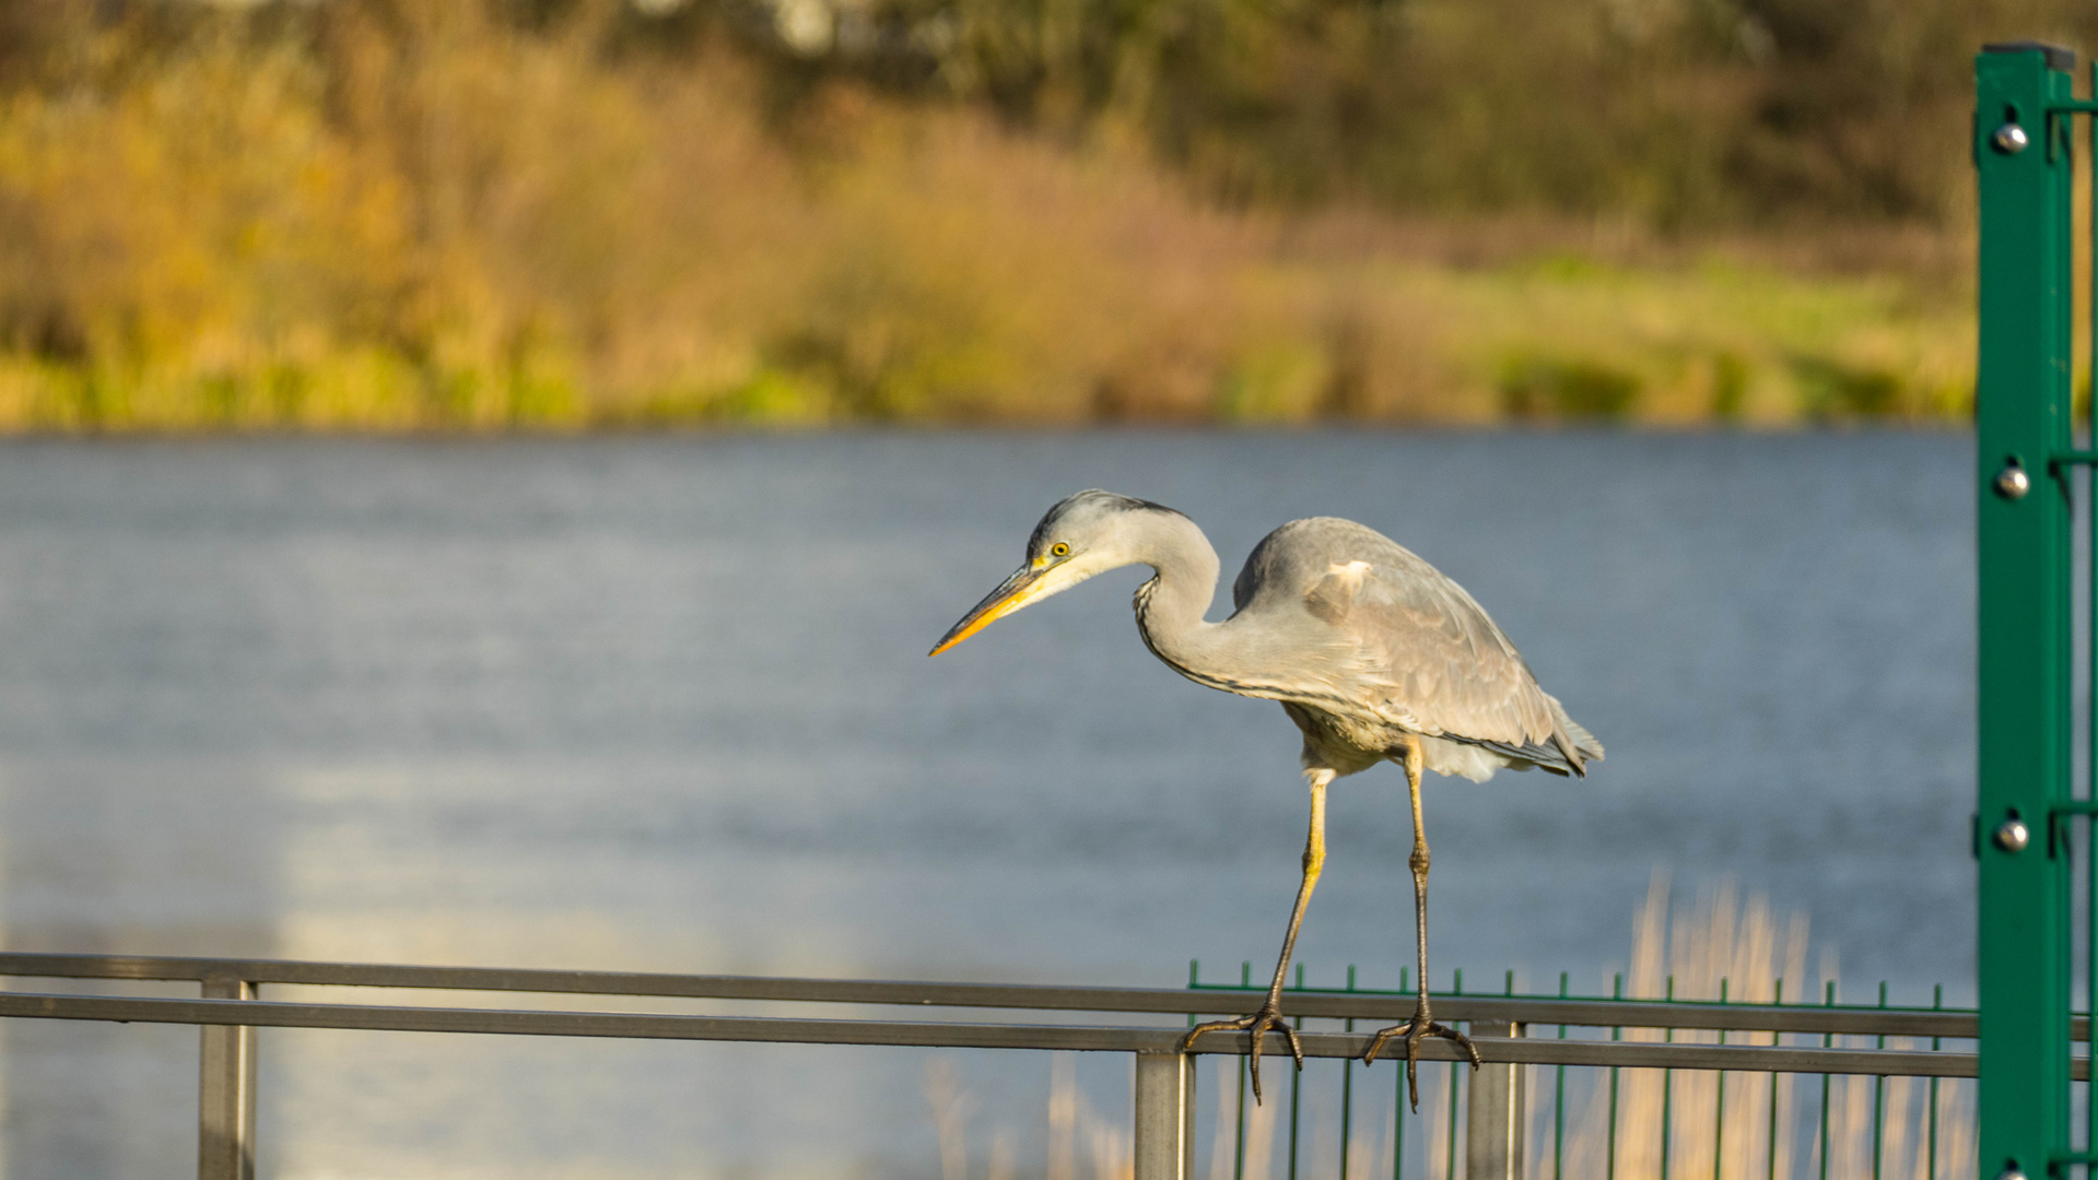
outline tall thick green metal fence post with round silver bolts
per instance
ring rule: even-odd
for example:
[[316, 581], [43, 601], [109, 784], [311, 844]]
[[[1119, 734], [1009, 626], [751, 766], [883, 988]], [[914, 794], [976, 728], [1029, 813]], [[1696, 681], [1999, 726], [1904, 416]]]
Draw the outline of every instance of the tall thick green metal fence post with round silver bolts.
[[2069, 1151], [2071, 138], [2075, 54], [1974, 59], [1981, 172], [1976, 375], [1981, 1176], [2046, 1176]]

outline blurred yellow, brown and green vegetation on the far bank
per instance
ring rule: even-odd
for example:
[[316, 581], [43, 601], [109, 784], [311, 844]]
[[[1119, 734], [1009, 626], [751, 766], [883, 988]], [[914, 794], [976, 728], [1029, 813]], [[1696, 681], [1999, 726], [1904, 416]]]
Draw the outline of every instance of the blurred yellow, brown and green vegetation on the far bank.
[[0, 0], [0, 430], [1957, 421], [2069, 0]]

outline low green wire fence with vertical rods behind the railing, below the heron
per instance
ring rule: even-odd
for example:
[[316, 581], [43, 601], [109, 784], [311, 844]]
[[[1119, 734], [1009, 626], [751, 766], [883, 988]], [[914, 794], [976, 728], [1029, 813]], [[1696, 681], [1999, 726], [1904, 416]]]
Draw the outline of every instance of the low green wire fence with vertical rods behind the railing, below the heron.
[[[1294, 985], [1284, 989], [1290, 996], [1284, 1010], [1320, 1012], [1324, 1008], [1307, 1000], [1372, 996], [1395, 1000], [1393, 1008], [1410, 1006], [1408, 983], [1401, 973], [1395, 991], [1357, 987], [1349, 966], [1343, 987], [1309, 987], [1299, 966]], [[1972, 1063], [1976, 1014], [1972, 1008], [1945, 1008], [1943, 987], [1932, 987], [1928, 1008], [1897, 1008], [1886, 983], [1880, 983], [1874, 1004], [1838, 1004], [1834, 983], [1821, 989], [1817, 1004], [1785, 1004], [1781, 979], [1771, 989], [1779, 1000], [1758, 1004], [1731, 1002], [1729, 981], [1720, 981], [1720, 998], [1708, 1002], [1676, 1000], [1674, 979], [1668, 979], [1662, 1000], [1626, 998], [1622, 973], [1607, 998], [1571, 996], [1565, 973], [1550, 996], [1519, 993], [1513, 970], [1498, 983], [1492, 991], [1467, 991], [1458, 970], [1450, 991], [1435, 991], [1437, 1010], [1471, 1014], [1467, 1023], [1475, 1035], [1548, 1037], [1559, 1046], [1588, 1042], [1611, 1052], [1599, 1054], [1592, 1065], [1504, 1067], [1504, 1077], [1494, 1077], [1492, 1065], [1473, 1075], [1462, 1063], [1437, 1063], [1443, 1069], [1422, 1069], [1420, 1111], [1408, 1107], [1397, 1071], [1366, 1071], [1355, 1061], [1311, 1063], [1288, 1073], [1286, 1094], [1278, 1094], [1276, 1111], [1265, 1113], [1271, 1134], [1280, 1136], [1280, 1161], [1271, 1167], [1261, 1161], [1248, 1167], [1248, 1140], [1257, 1138], [1255, 1123], [1263, 1111], [1246, 1100], [1246, 1061], [1219, 1058], [1223, 1094], [1213, 1115], [1215, 1132], [1194, 1136], [1215, 1140], [1206, 1174], [1232, 1180], [1939, 1180], [1974, 1167], [1974, 1094], [1964, 1063]], [[1190, 964], [1187, 987], [1217, 993], [1211, 1004], [1221, 1010], [1244, 1008], [1263, 991], [1253, 981], [1250, 962], [1229, 983], [1204, 983], [1200, 964]], [[1481, 1008], [1481, 1002], [1487, 1006]], [[1299, 1029], [1355, 1031], [1355, 1019], [1343, 1017], [1292, 1023]], [[2090, 1035], [2083, 1021], [2073, 1033], [2077, 1040]], [[1634, 1056], [1628, 1035], [1655, 1048], [1697, 1042], [1737, 1046], [1737, 1052], [1754, 1046], [1756, 1052], [1737, 1058], [1731, 1069], [1712, 1069], [1716, 1063], [1653, 1069], [1660, 1063]], [[1899, 1071], [1867, 1075], [1829, 1071], [1829, 1061], [1819, 1056], [1867, 1046], [1913, 1056]], [[1924, 1054], [1936, 1054], [1936, 1061]], [[1288, 1061], [1278, 1069], [1288, 1069]], [[1855, 1077], [1848, 1081], [1850, 1102], [1836, 1090], [1846, 1086], [1844, 1073]], [[1380, 1079], [1374, 1092], [1366, 1088], [1372, 1077]], [[1339, 1109], [1324, 1132], [1305, 1126], [1305, 1094], [1311, 1088], [1322, 1088], [1328, 1109]], [[1634, 1090], [1641, 1094], [1636, 1100], [1630, 1098]], [[1869, 1115], [1844, 1117], [1840, 1111], [1846, 1107], [1848, 1115], [1867, 1109]], [[1838, 1115], [1832, 1119], [1832, 1113]], [[1737, 1123], [1729, 1123], [1729, 1115]], [[1328, 1136], [1326, 1142], [1318, 1142], [1320, 1134]], [[1576, 1149], [1569, 1134], [1588, 1142]], [[1313, 1153], [1326, 1165], [1311, 1165], [1307, 1157]]]

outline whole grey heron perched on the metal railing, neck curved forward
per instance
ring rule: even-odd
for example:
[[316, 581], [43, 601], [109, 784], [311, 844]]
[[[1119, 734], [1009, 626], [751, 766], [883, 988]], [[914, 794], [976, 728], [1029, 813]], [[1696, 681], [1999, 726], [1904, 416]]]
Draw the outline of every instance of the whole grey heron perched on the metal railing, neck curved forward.
[[1282, 981], [1297, 928], [1326, 866], [1326, 788], [1380, 761], [1406, 769], [1414, 809], [1414, 933], [1420, 964], [1414, 1017], [1378, 1031], [1364, 1063], [1393, 1037], [1406, 1044], [1406, 1081], [1425, 1037], [1479, 1050], [1429, 1012], [1429, 840], [1420, 824], [1420, 771], [1485, 782], [1502, 767], [1586, 775], [1603, 744], [1538, 687], [1515, 643], [1485, 610], [1385, 534], [1336, 518], [1292, 520], [1269, 532], [1232, 583], [1234, 612], [1206, 622], [1221, 564], [1179, 511], [1104, 490], [1078, 493], [1043, 516], [1026, 562], [934, 646], [938, 656], [990, 622], [1120, 566], [1150, 566], [1137, 587], [1143, 646], [1179, 675], [1223, 692], [1282, 704], [1303, 731], [1311, 832], [1282, 958], [1261, 1006], [1196, 1025], [1183, 1046], [1221, 1029], [1253, 1042], [1253, 1094], [1261, 1094], [1261, 1042], [1282, 1033], [1303, 1069], [1297, 1031], [1282, 1021]]

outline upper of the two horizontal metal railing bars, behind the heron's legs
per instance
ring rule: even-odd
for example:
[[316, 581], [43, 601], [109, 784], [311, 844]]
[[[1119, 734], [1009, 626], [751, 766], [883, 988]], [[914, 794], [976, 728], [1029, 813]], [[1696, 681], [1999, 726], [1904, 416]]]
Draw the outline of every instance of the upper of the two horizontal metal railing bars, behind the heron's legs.
[[[871, 979], [774, 979], [755, 975], [657, 975], [617, 970], [531, 970], [487, 966], [405, 966], [298, 962], [264, 958], [0, 954], [0, 977], [31, 979], [245, 979], [315, 987], [403, 987], [449, 991], [543, 991], [652, 996], [684, 1000], [772, 1000], [812, 1004], [892, 1004], [915, 1008], [1032, 1008], [1070, 1012], [1232, 1012], [1221, 987], [1068, 987], [1026, 983], [908, 983]], [[1244, 991], [1255, 996], [1255, 991]], [[1410, 993], [1288, 991], [1284, 1008], [1307, 1019], [1404, 1021]], [[1729, 1029], [1890, 1037], [1974, 1037], [1972, 1012], [1922, 1008], [1823, 1008], [1773, 1004], [1670, 1004], [1653, 1000], [1546, 1000], [1435, 996], [1435, 1010], [1458, 1021], [1532, 1025]], [[2075, 1035], [2090, 1023], [2077, 1017]]]

